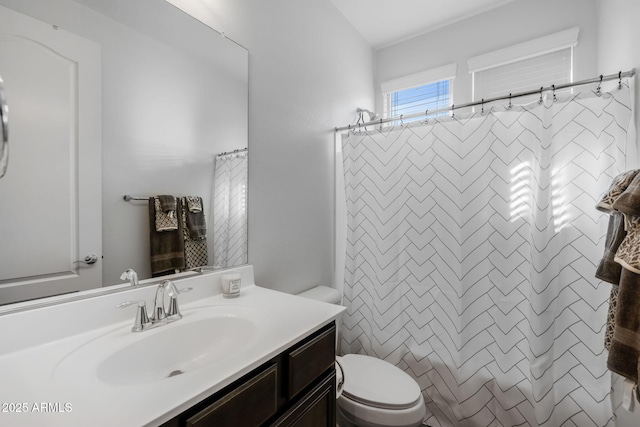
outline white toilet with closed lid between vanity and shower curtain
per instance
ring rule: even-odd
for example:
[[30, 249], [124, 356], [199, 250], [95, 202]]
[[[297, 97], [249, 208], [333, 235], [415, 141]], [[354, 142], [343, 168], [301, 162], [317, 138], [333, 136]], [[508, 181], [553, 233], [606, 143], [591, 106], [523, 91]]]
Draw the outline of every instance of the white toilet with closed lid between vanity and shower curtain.
[[[329, 286], [316, 286], [298, 295], [331, 304], [341, 299]], [[427, 410], [420, 386], [397, 366], [371, 356], [347, 354], [336, 357], [336, 376], [340, 427], [422, 425]]]

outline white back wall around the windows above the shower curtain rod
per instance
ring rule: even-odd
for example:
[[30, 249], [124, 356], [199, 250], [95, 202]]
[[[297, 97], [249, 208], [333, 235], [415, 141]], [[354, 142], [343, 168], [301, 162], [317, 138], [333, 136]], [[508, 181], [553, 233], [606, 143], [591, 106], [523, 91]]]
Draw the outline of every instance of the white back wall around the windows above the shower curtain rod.
[[471, 102], [467, 59], [514, 44], [580, 27], [574, 51], [574, 78], [591, 78], [596, 70], [597, 0], [516, 0], [467, 20], [376, 53], [376, 108], [382, 111], [380, 83], [448, 63], [458, 64], [453, 102]]

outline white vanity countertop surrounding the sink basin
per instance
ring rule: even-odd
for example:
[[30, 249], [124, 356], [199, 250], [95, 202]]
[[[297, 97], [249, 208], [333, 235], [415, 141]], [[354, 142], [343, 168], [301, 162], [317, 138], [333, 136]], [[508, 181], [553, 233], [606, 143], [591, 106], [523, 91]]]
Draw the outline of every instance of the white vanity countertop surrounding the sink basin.
[[[198, 280], [203, 279], [196, 279], [189, 286]], [[152, 291], [153, 289], [147, 290], [146, 295]], [[95, 300], [99, 298], [106, 297], [91, 298], [88, 301], [96, 304]], [[119, 300], [123, 299], [126, 298], [119, 296]], [[114, 311], [119, 311], [113, 308], [113, 300], [114, 297], [111, 296], [108, 302], [110, 307]], [[81, 305], [82, 302], [76, 303]], [[211, 366], [161, 381], [135, 385], [107, 384], [93, 374], [72, 375], [70, 378], [59, 373], [58, 368], [74, 349], [81, 348], [106, 334], [126, 331], [127, 334], [143, 337], [162, 328], [188, 322], [190, 316], [198, 312], [199, 307], [214, 306], [208, 310], [215, 310], [216, 306], [234, 305], [264, 311], [268, 314], [269, 320], [264, 322], [267, 324], [261, 326], [262, 330], [255, 345], [233, 354], [233, 357], [225, 357]], [[78, 306], [74, 310], [78, 310]], [[127, 310], [128, 316], [125, 321], [118, 320], [70, 336], [61, 336], [53, 341], [18, 348], [17, 351], [4, 348], [0, 353], [0, 425], [29, 427], [160, 425], [260, 366], [301, 338], [335, 320], [343, 310], [341, 306], [250, 285], [243, 286], [238, 298], [227, 299], [220, 294], [215, 294], [186, 301], [181, 304], [184, 315], [182, 320], [150, 331], [130, 332], [135, 312], [132, 308], [130, 311]], [[18, 313], [18, 315], [21, 321], [29, 319], [28, 312], [27, 315], [25, 313]], [[91, 316], [91, 313], [85, 315]], [[29, 334], [30, 331], [37, 335], [35, 331], [38, 325], [25, 324], [20, 329], [7, 330], [5, 327], [12, 322], [7, 321], [11, 319], [3, 319], [3, 317], [6, 316], [0, 316], [0, 329], [3, 330], [3, 335]], [[75, 319], [77, 322], [83, 322], [83, 320], [82, 316]], [[18, 324], [15, 321], [13, 323]], [[131, 339], [130, 336], [128, 338]], [[167, 343], [167, 351], [176, 350], [179, 351], [172, 348], [170, 342]], [[153, 354], [148, 355], [149, 358], [153, 356]], [[85, 360], [86, 363], [81, 363], [84, 365], [81, 368], [82, 372], [94, 372], [92, 369], [87, 370], [87, 367], [96, 367], [103, 359], [100, 356], [95, 360]], [[69, 367], [65, 369], [69, 370]]]

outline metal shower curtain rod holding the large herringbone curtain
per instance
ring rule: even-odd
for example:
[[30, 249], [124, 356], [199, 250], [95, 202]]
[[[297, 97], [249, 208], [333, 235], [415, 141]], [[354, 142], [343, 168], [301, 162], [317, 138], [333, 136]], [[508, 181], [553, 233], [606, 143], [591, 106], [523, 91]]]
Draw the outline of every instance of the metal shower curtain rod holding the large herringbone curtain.
[[[484, 105], [484, 104], [488, 104], [490, 102], [495, 102], [495, 101], [503, 101], [506, 99], [513, 99], [513, 98], [519, 98], [521, 96], [527, 96], [527, 95], [535, 95], [537, 93], [542, 94], [542, 92], [548, 92], [548, 91], [556, 91], [556, 90], [560, 90], [560, 89], [566, 89], [568, 87], [573, 87], [573, 86], [581, 86], [581, 85], [586, 85], [586, 84], [591, 84], [591, 83], [602, 83], [602, 82], [606, 82], [609, 80], [615, 80], [615, 79], [619, 79], [622, 80], [623, 77], [633, 77], [636, 74], [636, 70], [635, 68], [632, 68], [629, 71], [625, 71], [625, 72], [618, 72], [616, 74], [609, 74], [607, 76], [603, 76], [602, 74], [600, 74], [600, 76], [592, 78], [592, 79], [587, 79], [587, 80], [580, 80], [577, 82], [573, 82], [573, 83], [563, 83], [560, 85], [551, 85], [551, 86], [547, 86], [547, 87], [541, 87], [540, 89], [537, 90], [529, 90], [526, 92], [518, 92], [518, 93], [510, 93], [509, 95], [503, 95], [503, 96], [496, 96], [494, 98], [488, 98], [488, 99], [482, 99], [481, 101], [474, 101], [474, 102], [469, 102], [467, 104], [460, 104], [460, 105], [451, 105], [451, 107], [445, 107], [445, 108], [438, 108], [437, 110], [426, 110], [424, 113], [413, 113], [413, 114], [406, 114], [406, 115], [401, 115], [401, 116], [396, 116], [396, 117], [390, 117], [387, 119], [378, 119], [378, 120], [373, 120], [370, 122], [366, 122], [366, 123], [360, 123], [359, 125], [348, 125], [348, 126], [342, 126], [342, 127], [336, 127], [334, 128], [334, 132], [340, 132], [342, 130], [351, 130], [351, 129], [356, 129], [356, 128], [362, 128], [365, 126], [373, 126], [373, 125], [382, 125], [383, 123], [388, 123], [388, 122], [394, 122], [397, 120], [402, 120], [402, 119], [410, 119], [410, 118], [414, 118], [414, 117], [426, 117], [429, 114], [436, 114], [436, 113], [442, 113], [445, 111], [454, 111], [457, 110], [458, 108], [467, 108], [467, 107], [475, 107], [476, 105]], [[599, 86], [598, 86], [599, 87]]]

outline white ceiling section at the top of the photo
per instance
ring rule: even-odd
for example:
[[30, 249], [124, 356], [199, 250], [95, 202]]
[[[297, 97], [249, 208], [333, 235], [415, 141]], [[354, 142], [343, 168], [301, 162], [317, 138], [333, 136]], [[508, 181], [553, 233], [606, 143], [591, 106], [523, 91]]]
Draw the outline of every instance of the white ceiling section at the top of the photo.
[[369, 44], [382, 48], [514, 0], [331, 0]]

